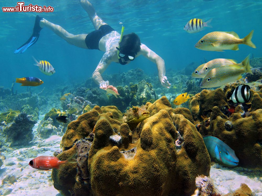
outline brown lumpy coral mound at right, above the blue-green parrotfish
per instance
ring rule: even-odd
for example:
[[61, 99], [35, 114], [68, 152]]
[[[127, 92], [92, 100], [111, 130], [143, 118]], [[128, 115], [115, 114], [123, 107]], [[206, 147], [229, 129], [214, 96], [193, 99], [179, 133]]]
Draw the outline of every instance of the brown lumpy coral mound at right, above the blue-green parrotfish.
[[[190, 100], [190, 111], [195, 123], [201, 122], [200, 128], [197, 125], [201, 135], [215, 136], [230, 146], [239, 158], [239, 166], [261, 169], [261, 84], [250, 84], [253, 96], [249, 103], [234, 104], [229, 98], [237, 85], [225, 85], [225, 93], [220, 88], [202, 90]], [[230, 106], [233, 112], [229, 112]]]

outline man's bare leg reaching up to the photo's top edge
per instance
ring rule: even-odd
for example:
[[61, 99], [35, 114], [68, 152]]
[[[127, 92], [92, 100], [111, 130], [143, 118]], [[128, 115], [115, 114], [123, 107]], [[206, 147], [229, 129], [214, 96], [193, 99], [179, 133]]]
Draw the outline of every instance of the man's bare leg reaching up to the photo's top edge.
[[96, 30], [99, 29], [102, 25], [107, 25], [101, 18], [99, 18], [96, 14], [96, 11], [93, 5], [87, 0], [79, 0], [81, 6], [88, 13], [90, 20], [92, 21]]

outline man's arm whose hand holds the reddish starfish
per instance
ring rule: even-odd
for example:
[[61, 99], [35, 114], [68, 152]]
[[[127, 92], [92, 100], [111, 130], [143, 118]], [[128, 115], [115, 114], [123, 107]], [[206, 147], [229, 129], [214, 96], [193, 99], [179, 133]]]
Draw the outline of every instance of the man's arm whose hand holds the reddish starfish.
[[109, 86], [108, 80], [103, 80], [101, 74], [106, 70], [108, 65], [111, 63], [111, 55], [105, 53], [100, 60], [99, 64], [97, 65], [95, 71], [92, 74], [92, 79], [95, 81], [96, 84], [99, 84], [100, 87], [106, 88]]

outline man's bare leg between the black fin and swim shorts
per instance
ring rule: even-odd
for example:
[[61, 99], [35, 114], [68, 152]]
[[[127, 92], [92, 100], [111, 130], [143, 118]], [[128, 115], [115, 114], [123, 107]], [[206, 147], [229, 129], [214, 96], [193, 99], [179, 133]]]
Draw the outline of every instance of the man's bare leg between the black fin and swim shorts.
[[59, 25], [53, 24], [52, 22], [47, 21], [46, 19], [40, 20], [40, 27], [47, 27], [50, 30], [52, 30], [54, 33], [56, 33], [59, 37], [67, 41], [71, 45], [75, 45], [79, 48], [85, 48], [88, 49], [88, 47], [85, 44], [85, 37], [87, 34], [78, 34], [74, 35], [71, 33], [68, 33], [64, 28], [62, 28]]

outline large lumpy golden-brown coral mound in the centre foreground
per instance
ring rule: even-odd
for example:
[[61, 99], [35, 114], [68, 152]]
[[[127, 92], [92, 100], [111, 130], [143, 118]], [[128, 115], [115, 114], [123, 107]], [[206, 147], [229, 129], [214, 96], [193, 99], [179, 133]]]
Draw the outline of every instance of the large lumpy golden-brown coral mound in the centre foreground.
[[[201, 135], [182, 114], [173, 112], [166, 97], [147, 105], [150, 117], [138, 124], [140, 138], [135, 143], [128, 125], [114, 119], [115, 108], [95, 106], [71, 122], [61, 143], [64, 151], [58, 156], [63, 160], [70, 157], [76, 151], [73, 143], [94, 129], [86, 163], [90, 181], [77, 175], [76, 164], [65, 164], [52, 172], [55, 187], [66, 195], [193, 194], [195, 177], [209, 175], [210, 170], [210, 158]], [[187, 110], [184, 113], [190, 118]], [[175, 145], [178, 132], [184, 139], [179, 151]], [[112, 135], [120, 135], [122, 143], [116, 146], [110, 140]]]

